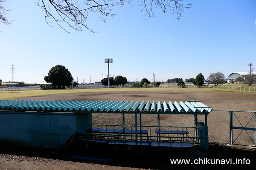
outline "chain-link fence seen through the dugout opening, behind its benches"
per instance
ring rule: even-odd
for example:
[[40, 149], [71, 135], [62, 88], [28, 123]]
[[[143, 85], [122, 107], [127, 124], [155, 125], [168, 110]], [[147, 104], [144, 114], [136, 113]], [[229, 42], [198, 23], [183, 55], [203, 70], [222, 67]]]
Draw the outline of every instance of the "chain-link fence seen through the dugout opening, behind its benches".
[[[92, 127], [108, 129], [135, 129], [134, 113], [93, 113]], [[141, 122], [141, 124], [140, 124]], [[195, 141], [194, 115], [175, 114], [145, 114], [137, 113], [138, 130], [148, 130], [148, 136], [138, 136], [138, 139], [151, 141]], [[187, 131], [188, 134], [161, 134], [156, 130], [180, 130]]]

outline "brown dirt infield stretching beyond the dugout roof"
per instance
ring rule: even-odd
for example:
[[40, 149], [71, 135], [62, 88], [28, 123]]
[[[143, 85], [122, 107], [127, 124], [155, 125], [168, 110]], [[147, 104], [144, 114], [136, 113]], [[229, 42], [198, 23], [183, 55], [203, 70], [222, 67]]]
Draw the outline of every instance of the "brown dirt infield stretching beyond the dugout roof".
[[100, 100], [100, 101], [189, 101], [200, 100], [213, 110], [256, 111], [256, 94], [218, 91], [123, 91], [51, 94], [20, 97], [22, 100]]

